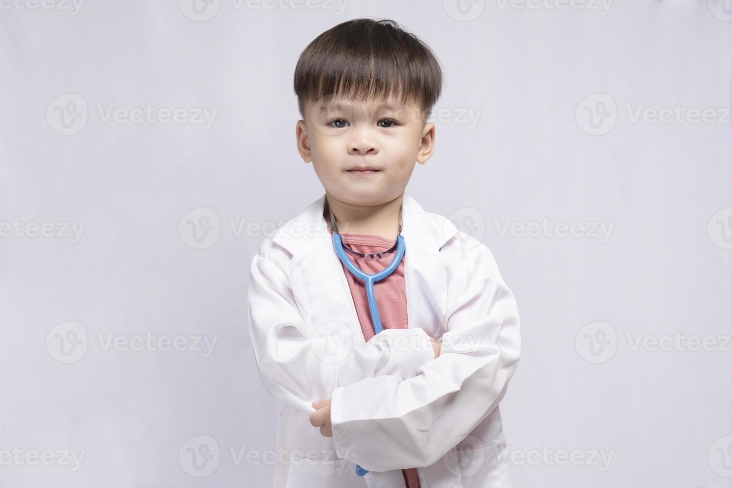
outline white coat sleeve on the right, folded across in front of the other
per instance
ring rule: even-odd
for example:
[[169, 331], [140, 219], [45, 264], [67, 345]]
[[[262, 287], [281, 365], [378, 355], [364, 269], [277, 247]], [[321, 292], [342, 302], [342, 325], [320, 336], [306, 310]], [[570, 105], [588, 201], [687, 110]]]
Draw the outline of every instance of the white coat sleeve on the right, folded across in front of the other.
[[339, 457], [373, 471], [433, 465], [503, 398], [520, 355], [518, 311], [493, 254], [470, 239], [441, 249], [448, 297], [439, 357], [416, 377], [367, 378], [333, 392]]

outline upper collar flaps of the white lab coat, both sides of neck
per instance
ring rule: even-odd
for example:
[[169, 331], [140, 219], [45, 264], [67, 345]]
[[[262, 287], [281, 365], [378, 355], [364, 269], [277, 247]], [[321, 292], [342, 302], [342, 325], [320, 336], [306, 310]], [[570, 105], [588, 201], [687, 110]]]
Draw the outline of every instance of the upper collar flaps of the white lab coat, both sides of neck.
[[[322, 239], [331, 239], [328, 223], [323, 217], [325, 194], [277, 230], [273, 240], [293, 256], [307, 252]], [[438, 251], [458, 228], [442, 215], [425, 212], [408, 193], [402, 199], [402, 235], [406, 241], [422, 243], [430, 251]]]

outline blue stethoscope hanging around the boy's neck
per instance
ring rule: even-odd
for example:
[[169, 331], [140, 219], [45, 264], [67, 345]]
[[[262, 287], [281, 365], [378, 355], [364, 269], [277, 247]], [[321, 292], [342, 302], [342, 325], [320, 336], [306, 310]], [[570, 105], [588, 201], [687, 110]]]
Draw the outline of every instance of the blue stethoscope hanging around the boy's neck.
[[[346, 265], [348, 271], [353, 273], [354, 276], [356, 276], [357, 278], [360, 278], [366, 284], [366, 296], [368, 298], [368, 309], [371, 314], [371, 322], [373, 322], [374, 332], [378, 334], [383, 329], [381, 328], [381, 319], [378, 317], [378, 308], [376, 308], [376, 296], [373, 294], [373, 284], [376, 283], [376, 281], [382, 280], [386, 278], [386, 276], [394, 273], [394, 270], [397, 269], [399, 263], [402, 260], [402, 257], [404, 256], [404, 237], [402, 237], [402, 209], [401, 207], [399, 209], [399, 231], [397, 232], [397, 241], [394, 243], [394, 245], [392, 245], [392, 247], [387, 249], [386, 251], [372, 254], [364, 254], [354, 251], [353, 249], [348, 248], [348, 246], [343, 244], [343, 240], [340, 238], [340, 234], [338, 233], [338, 228], [335, 225], [333, 210], [328, 204], [328, 199], [326, 199], [326, 207], [328, 208], [328, 211], [330, 213], [330, 229], [333, 232], [333, 248], [335, 249], [335, 254], [338, 255], [340, 261], [343, 262], [343, 265]], [[364, 273], [362, 270], [359, 270], [359, 268], [356, 267], [353, 262], [351, 262], [351, 259], [348, 259], [348, 256], [346, 256], [347, 251], [348, 254], [351, 254], [351, 256], [356, 256], [362, 259], [378, 259], [381, 256], [384, 256], [384, 254], [388, 254], [394, 251], [395, 248], [397, 251], [392, 258], [392, 262], [389, 263], [389, 266], [385, 267], [378, 273], [374, 273], [373, 275]], [[356, 465], [356, 474], [358, 476], [364, 476], [366, 473], [368, 473], [368, 470], [365, 470], [359, 465]]]

